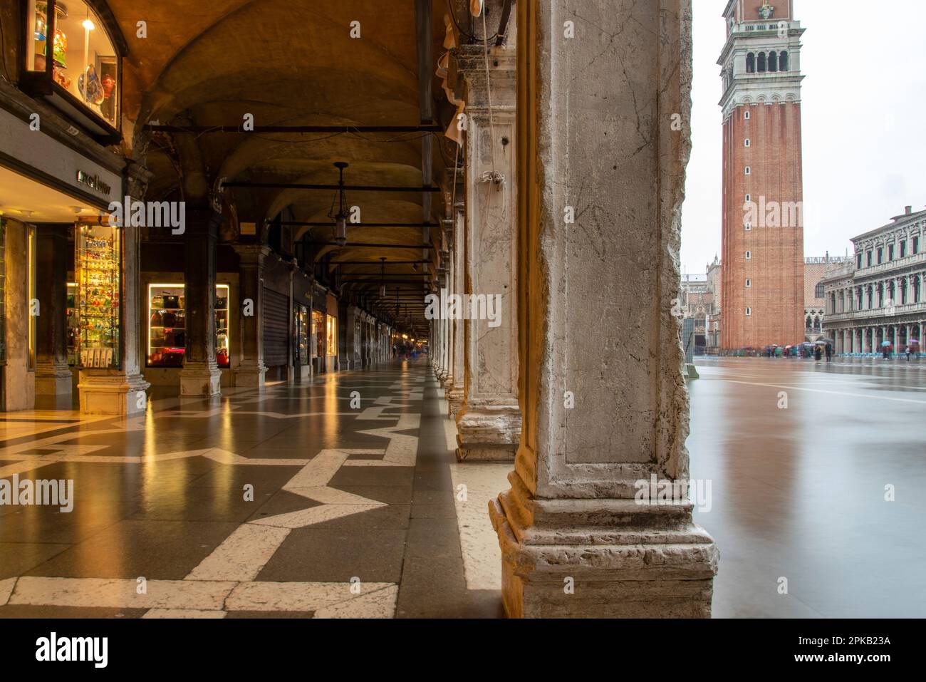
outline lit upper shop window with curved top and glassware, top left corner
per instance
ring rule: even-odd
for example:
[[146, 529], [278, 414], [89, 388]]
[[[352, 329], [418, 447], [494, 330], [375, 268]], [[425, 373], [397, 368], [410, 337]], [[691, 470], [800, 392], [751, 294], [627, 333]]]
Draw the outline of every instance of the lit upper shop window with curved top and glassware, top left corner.
[[57, 87], [118, 128], [119, 58], [103, 22], [81, 0], [28, 5], [26, 69], [48, 73]]

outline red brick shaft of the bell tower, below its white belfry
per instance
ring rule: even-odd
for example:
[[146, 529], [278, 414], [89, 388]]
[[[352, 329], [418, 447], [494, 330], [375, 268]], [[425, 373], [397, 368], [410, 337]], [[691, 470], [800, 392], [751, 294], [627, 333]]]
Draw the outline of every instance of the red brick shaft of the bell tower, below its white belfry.
[[[744, 113], [750, 112], [750, 120]], [[750, 146], [745, 147], [745, 138]], [[723, 126], [720, 345], [732, 350], [804, 340], [804, 229], [744, 227], [745, 196], [759, 204], [803, 200], [799, 104], [737, 107]], [[752, 170], [745, 175], [745, 167]], [[782, 217], [783, 220], [783, 217]], [[745, 259], [751, 251], [752, 259]], [[746, 288], [746, 279], [752, 286]], [[746, 317], [745, 309], [752, 309]]]

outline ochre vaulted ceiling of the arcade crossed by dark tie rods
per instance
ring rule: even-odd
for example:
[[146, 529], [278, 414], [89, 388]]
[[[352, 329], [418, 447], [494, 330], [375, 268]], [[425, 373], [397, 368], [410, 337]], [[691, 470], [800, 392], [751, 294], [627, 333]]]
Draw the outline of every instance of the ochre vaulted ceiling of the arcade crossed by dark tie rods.
[[[430, 3], [430, 7], [429, 7]], [[467, 2], [453, 0], [458, 13]], [[134, 125], [131, 150], [155, 173], [148, 198], [184, 196], [219, 179], [228, 183], [333, 184], [346, 161], [347, 184], [420, 187], [444, 178], [439, 133], [204, 133], [202, 127], [418, 126], [452, 116], [434, 75], [444, 48], [448, 0], [108, 0], [129, 44], [123, 65], [123, 114]], [[430, 8], [430, 17], [429, 14]], [[461, 15], [462, 16], [462, 15]], [[422, 20], [423, 18], [424, 20]], [[146, 22], [147, 37], [137, 35]], [[360, 37], [351, 36], [359, 21]], [[430, 26], [425, 25], [425, 21]], [[421, 22], [421, 26], [417, 22]], [[430, 53], [430, 54], [429, 54]], [[427, 69], [419, 56], [430, 57]], [[432, 93], [419, 96], [421, 92]], [[439, 96], [438, 96], [439, 95]], [[430, 100], [430, 104], [429, 104]], [[142, 133], [146, 123], [193, 126], [196, 133]], [[185, 137], [184, 137], [185, 136]], [[431, 136], [432, 139], [427, 139]], [[182, 138], [182, 139], [181, 139]], [[444, 145], [443, 147], [441, 145]], [[144, 149], [144, 152], [142, 151]], [[452, 158], [451, 158], [452, 163]], [[189, 182], [184, 176], [205, 176]], [[326, 222], [332, 191], [235, 186], [225, 199], [241, 221]], [[440, 194], [349, 192], [363, 222], [438, 223]], [[430, 208], [427, 208], [430, 205]], [[330, 241], [328, 227], [294, 227], [294, 237]], [[431, 241], [438, 238], [433, 230]], [[422, 228], [352, 227], [350, 243], [420, 245]], [[331, 251], [319, 247], [317, 257]], [[423, 255], [424, 254], [424, 255]], [[433, 259], [421, 248], [337, 248], [335, 261], [379, 264]], [[428, 268], [420, 271], [427, 272]], [[389, 272], [420, 280], [423, 272]], [[368, 266], [342, 269], [349, 278]], [[394, 293], [394, 287], [390, 287]]]

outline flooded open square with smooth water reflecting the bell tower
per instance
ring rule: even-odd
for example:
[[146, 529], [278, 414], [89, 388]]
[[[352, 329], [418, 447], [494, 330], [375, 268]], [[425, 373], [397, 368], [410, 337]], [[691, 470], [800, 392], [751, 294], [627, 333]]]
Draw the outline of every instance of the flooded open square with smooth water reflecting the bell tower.
[[712, 484], [695, 520], [720, 547], [715, 617], [926, 615], [926, 364], [696, 365], [687, 446]]

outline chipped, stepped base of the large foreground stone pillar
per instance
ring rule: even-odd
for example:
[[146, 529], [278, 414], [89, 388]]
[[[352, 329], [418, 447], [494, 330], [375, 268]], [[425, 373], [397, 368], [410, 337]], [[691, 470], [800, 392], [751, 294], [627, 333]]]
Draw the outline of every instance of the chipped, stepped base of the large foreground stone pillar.
[[536, 499], [508, 478], [489, 502], [508, 617], [710, 617], [720, 552], [692, 505]]

